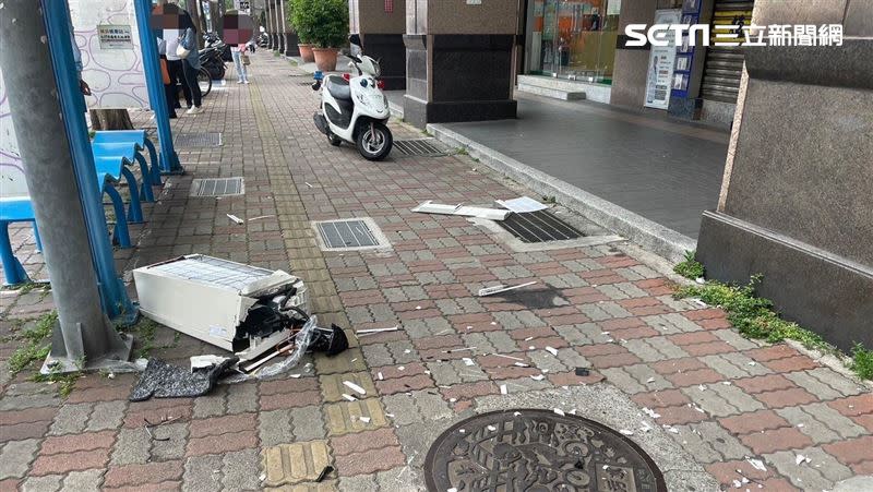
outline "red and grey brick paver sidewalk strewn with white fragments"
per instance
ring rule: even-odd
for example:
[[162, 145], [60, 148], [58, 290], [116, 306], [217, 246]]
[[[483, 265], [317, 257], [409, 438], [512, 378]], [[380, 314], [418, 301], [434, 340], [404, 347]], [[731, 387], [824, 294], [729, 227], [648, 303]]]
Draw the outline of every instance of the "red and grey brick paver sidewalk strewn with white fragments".
[[[174, 123], [177, 133], [223, 132], [224, 146], [181, 152], [189, 173], [168, 180], [120, 265], [199, 252], [290, 268], [322, 324], [402, 329], [352, 337], [340, 356], [292, 371], [302, 377], [222, 385], [193, 399], [129, 403], [130, 374], [87, 375], [62, 399], [56, 386], [4, 374], [0, 490], [417, 490], [435, 435], [510, 405], [577, 408], [630, 429], [651, 423], [632, 439], [671, 490], [827, 490], [873, 473], [873, 396], [859, 382], [786, 345], [740, 337], [718, 309], [674, 301], [668, 279], [633, 248], [516, 252], [466, 219], [409, 212], [423, 200], [487, 204], [519, 189], [462, 155], [368, 163], [350, 146], [332, 147], [313, 128], [308, 76], [260, 52], [251, 73], [251, 85], [216, 87], [203, 115]], [[192, 178], [231, 176], [246, 178], [244, 196], [188, 196]], [[236, 225], [228, 213], [271, 217]], [[356, 216], [372, 217], [392, 249], [318, 248], [311, 220]], [[13, 237], [32, 250], [27, 229]], [[27, 256], [38, 272], [38, 254]], [[475, 293], [531, 279], [569, 303], [528, 309]], [[4, 369], [15, 320], [51, 304], [32, 291], [3, 292], [0, 305]], [[188, 337], [174, 344], [174, 335], [158, 329], [154, 344], [167, 348], [152, 353], [184, 363], [217, 352]], [[579, 367], [590, 375], [576, 376]], [[362, 386], [364, 399], [344, 399], [343, 381]], [[620, 404], [598, 401], [607, 397]], [[153, 439], [146, 419], [170, 421]], [[328, 464], [336, 470], [314, 483]]]

